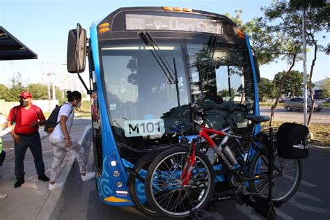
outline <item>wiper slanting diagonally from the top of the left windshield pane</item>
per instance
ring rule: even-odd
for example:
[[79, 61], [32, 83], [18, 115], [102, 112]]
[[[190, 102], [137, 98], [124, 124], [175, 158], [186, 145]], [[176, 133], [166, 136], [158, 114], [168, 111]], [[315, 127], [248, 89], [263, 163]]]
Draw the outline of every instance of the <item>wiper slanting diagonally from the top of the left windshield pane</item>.
[[166, 77], [168, 79], [169, 84], [177, 84], [178, 79], [173, 77], [173, 76], [175, 76], [175, 72], [173, 72], [171, 66], [166, 61], [164, 54], [162, 54], [162, 51], [159, 49], [155, 40], [150, 36], [150, 33], [148, 33], [148, 31], [141, 31], [139, 33], [139, 35], [140, 35], [141, 39], [146, 43], [147, 46], [152, 47], [152, 49], [150, 49], [150, 52], [151, 52], [152, 56], [155, 57], [160, 68], [162, 68], [164, 74], [166, 75]]

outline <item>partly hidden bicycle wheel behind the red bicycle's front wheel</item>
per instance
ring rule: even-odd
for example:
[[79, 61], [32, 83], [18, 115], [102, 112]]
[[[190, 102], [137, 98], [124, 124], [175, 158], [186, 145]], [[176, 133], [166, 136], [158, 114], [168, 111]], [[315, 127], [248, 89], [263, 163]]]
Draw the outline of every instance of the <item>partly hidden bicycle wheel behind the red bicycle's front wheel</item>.
[[[152, 162], [155, 159], [155, 155], [148, 154], [136, 162], [133, 167], [133, 171], [141, 175], [141, 177], [145, 177], [147, 170]], [[134, 203], [134, 207], [136, 210], [139, 210], [143, 214], [146, 214], [148, 217], [157, 217], [159, 214], [155, 212], [148, 202], [146, 201], [146, 191], [144, 187], [144, 182], [138, 180], [134, 175], [129, 174], [127, 185], [129, 187], [129, 194], [132, 198], [132, 202]]]

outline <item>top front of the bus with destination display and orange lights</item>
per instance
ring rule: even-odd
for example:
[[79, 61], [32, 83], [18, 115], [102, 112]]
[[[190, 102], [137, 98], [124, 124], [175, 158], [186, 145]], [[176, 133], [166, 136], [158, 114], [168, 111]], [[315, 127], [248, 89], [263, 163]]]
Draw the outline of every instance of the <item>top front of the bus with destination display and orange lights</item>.
[[118, 8], [98, 24], [98, 33], [123, 31], [189, 31], [244, 38], [228, 17], [202, 10], [171, 7]]

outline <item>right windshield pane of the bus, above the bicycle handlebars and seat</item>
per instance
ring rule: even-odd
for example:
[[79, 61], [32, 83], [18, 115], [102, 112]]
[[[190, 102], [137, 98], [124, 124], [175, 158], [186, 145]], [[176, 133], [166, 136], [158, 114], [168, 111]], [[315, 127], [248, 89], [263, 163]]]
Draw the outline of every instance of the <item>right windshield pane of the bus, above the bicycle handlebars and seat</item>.
[[[239, 107], [244, 111], [233, 113], [237, 127], [247, 127], [244, 116], [254, 112], [253, 77], [247, 49], [241, 45], [217, 42], [214, 48], [207, 41], [187, 44], [191, 72], [191, 88], [194, 100], [205, 101], [223, 98], [224, 106]], [[209, 111], [207, 120], [213, 127], [225, 126], [226, 112]], [[231, 120], [229, 118], [229, 120]]]

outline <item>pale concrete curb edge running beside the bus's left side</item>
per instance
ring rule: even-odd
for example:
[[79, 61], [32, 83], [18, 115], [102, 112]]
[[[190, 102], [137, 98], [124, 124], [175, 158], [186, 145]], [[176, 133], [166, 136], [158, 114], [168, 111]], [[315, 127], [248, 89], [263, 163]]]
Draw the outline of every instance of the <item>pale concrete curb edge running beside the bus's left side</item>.
[[[78, 143], [81, 145], [86, 140], [86, 136], [88, 132], [91, 129], [91, 125], [86, 126], [84, 133], [82, 134], [81, 138], [79, 139]], [[61, 175], [59, 177], [60, 182], [64, 182], [64, 186], [58, 189], [55, 189], [53, 191], [47, 190], [43, 205], [40, 207], [39, 212], [35, 212], [36, 214], [33, 214], [33, 217], [31, 219], [38, 219], [38, 220], [45, 220], [45, 219], [52, 219], [52, 216], [57, 213], [61, 209], [61, 200], [63, 192], [65, 192], [65, 189], [68, 187], [67, 180], [69, 177], [69, 174], [72, 170], [73, 164], [74, 164], [74, 155], [71, 155], [71, 157], [66, 161], [64, 164], [64, 168], [61, 171]]]

